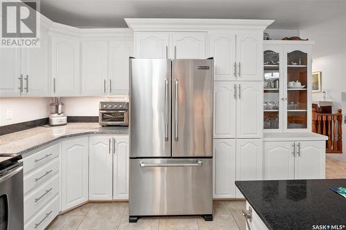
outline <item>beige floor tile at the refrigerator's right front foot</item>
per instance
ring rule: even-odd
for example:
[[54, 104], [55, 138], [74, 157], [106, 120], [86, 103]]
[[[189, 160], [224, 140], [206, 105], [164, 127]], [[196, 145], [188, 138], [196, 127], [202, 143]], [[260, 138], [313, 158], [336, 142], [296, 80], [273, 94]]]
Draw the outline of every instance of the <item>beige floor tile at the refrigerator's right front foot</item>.
[[239, 230], [230, 214], [215, 215], [212, 221], [198, 220], [199, 230]]

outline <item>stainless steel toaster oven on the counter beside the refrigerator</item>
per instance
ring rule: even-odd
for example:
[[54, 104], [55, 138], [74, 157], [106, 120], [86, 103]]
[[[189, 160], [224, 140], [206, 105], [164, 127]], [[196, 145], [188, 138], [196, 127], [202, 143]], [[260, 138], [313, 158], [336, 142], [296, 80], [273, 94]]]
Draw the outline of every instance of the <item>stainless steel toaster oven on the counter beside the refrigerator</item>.
[[129, 126], [128, 102], [100, 102], [99, 112], [102, 126]]

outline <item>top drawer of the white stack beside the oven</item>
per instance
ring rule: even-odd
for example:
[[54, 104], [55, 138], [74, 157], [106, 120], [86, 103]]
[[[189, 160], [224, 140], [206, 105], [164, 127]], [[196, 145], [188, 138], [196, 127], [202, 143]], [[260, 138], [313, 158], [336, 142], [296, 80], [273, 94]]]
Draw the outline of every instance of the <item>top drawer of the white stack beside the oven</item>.
[[33, 155], [25, 157], [23, 160], [24, 175], [33, 169], [37, 169], [38, 166], [46, 164], [51, 161], [54, 157], [57, 157], [60, 152], [60, 143], [43, 149]]

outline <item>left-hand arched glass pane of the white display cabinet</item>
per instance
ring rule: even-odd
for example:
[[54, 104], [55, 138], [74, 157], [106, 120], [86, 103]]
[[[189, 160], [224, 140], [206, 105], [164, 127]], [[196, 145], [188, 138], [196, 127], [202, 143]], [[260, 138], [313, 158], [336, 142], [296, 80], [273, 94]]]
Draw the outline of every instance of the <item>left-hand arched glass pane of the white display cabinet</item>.
[[264, 130], [280, 128], [280, 53], [264, 51]]

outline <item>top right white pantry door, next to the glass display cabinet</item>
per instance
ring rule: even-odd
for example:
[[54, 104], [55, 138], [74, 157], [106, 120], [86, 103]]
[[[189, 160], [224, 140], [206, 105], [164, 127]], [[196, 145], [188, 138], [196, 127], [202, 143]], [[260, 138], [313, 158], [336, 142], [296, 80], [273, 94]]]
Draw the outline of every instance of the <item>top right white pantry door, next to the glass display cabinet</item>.
[[240, 81], [262, 81], [262, 32], [237, 33], [237, 78]]

